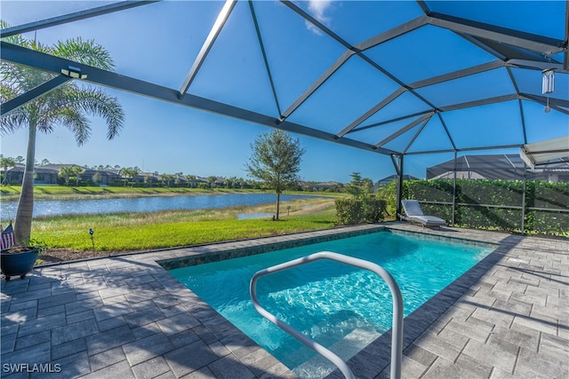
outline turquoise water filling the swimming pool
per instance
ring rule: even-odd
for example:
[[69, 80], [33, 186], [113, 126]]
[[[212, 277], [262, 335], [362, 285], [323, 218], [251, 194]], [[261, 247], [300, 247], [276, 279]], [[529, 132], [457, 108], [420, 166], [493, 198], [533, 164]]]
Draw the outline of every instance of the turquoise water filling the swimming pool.
[[[323, 250], [385, 268], [401, 288], [405, 316], [492, 251], [380, 232], [188, 266], [170, 273], [297, 375], [322, 377], [332, 367], [324, 367], [314, 358], [315, 353], [260, 317], [251, 303], [249, 281], [263, 268]], [[268, 312], [332, 348], [343, 359], [391, 328], [388, 286], [375, 273], [352, 266], [318, 261], [276, 272], [258, 280], [257, 293]]]

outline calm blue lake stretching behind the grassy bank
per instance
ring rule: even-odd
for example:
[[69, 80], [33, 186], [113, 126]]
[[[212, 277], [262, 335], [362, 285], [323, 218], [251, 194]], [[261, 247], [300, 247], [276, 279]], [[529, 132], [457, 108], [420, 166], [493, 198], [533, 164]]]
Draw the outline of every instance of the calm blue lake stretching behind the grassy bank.
[[[321, 196], [281, 195], [281, 201]], [[42, 200], [34, 203], [34, 217], [116, 212], [157, 212], [173, 209], [211, 209], [276, 202], [276, 193], [228, 193], [191, 196], [152, 196], [121, 199]], [[2, 201], [2, 219], [16, 217], [18, 201]], [[285, 209], [284, 209], [285, 210]]]

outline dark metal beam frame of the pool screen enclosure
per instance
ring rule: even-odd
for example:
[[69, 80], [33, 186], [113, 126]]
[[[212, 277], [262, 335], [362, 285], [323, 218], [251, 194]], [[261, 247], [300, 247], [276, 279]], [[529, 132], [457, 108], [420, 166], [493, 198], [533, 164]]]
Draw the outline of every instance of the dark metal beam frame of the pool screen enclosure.
[[[220, 101], [213, 99], [205, 99], [193, 94], [188, 93], [188, 88], [191, 85], [196, 74], [199, 72], [200, 67], [204, 63], [204, 59], [207, 57], [208, 52], [211, 50], [213, 44], [216, 41], [217, 36], [219, 36], [221, 29], [224, 27], [228, 17], [230, 16], [233, 8], [236, 5], [237, 0], [226, 0], [224, 6], [222, 7], [220, 14], [209, 35], [204, 41], [202, 49], [196, 56], [191, 68], [189, 69], [188, 75], [183, 81], [180, 90], [164, 87], [154, 83], [149, 83], [137, 78], [120, 75], [118, 73], [113, 73], [106, 70], [101, 70], [94, 67], [88, 67], [71, 61], [68, 59], [60, 59], [51, 55], [44, 54], [39, 51], [29, 50], [12, 43], [7, 43], [5, 41], [1, 42], [2, 49], [2, 59], [10, 61], [12, 63], [18, 63], [28, 67], [34, 67], [39, 70], [44, 70], [56, 74], [51, 81], [44, 83], [35, 89], [28, 91], [20, 95], [15, 99], [10, 99], [2, 104], [1, 114], [8, 114], [14, 109], [21, 107], [32, 99], [41, 96], [47, 91], [52, 91], [53, 89], [59, 87], [63, 83], [67, 83], [72, 80], [68, 75], [62, 75], [61, 70], [68, 67], [77, 67], [81, 73], [87, 75], [85, 78], [86, 82], [106, 86], [119, 91], [133, 92], [142, 96], [146, 96], [153, 99], [160, 99], [163, 101], [172, 102], [184, 107], [193, 107], [196, 109], [204, 110], [207, 112], [212, 112], [215, 114], [222, 114], [228, 117], [234, 117], [236, 119], [244, 120], [247, 122], [254, 122], [271, 128], [281, 129], [289, 131], [292, 133], [302, 134], [305, 136], [323, 139], [336, 144], [356, 147], [365, 151], [373, 152], [376, 154], [385, 154], [391, 157], [394, 168], [398, 176], [398, 186], [397, 186], [397, 213], [401, 211], [401, 189], [403, 184], [404, 175], [404, 158], [405, 155], [411, 154], [439, 154], [439, 153], [453, 153], [455, 159], [457, 155], [462, 152], [469, 151], [481, 151], [481, 150], [500, 150], [508, 148], [519, 148], [526, 144], [526, 127], [525, 119], [523, 116], [523, 105], [522, 100], [527, 100], [531, 102], [536, 102], [545, 106], [549, 104], [549, 107], [562, 114], [569, 114], [569, 99], [560, 99], [551, 95], [537, 96], [531, 93], [525, 93], [519, 91], [517, 84], [513, 79], [511, 73], [511, 68], [529, 68], [533, 70], [543, 70], [545, 68], [556, 68], [558, 73], [569, 73], [569, 63], [568, 63], [568, 51], [567, 51], [567, 40], [569, 36], [569, 2], [566, 2], [565, 11], [565, 40], [559, 40], [551, 38], [549, 36], [539, 36], [530, 34], [527, 32], [502, 28], [501, 26], [485, 24], [482, 22], [474, 20], [466, 20], [457, 18], [451, 15], [446, 15], [437, 12], [431, 12], [427, 2], [422, 0], [417, 0], [417, 4], [420, 5], [421, 10], [424, 12], [418, 18], [409, 20], [396, 28], [391, 28], [377, 36], [373, 36], [364, 42], [357, 44], [350, 44], [344, 40], [341, 36], [333, 32], [331, 28], [326, 27], [322, 22], [318, 21], [315, 17], [311, 16], [308, 12], [305, 12], [297, 4], [291, 1], [281, 0], [281, 3], [287, 6], [290, 10], [295, 12], [303, 20], [306, 20], [314, 27], [318, 28], [326, 36], [329, 36], [337, 43], [340, 43], [346, 50], [341, 56], [333, 63], [331, 67], [328, 67], [325, 72], [320, 75], [316, 82], [309, 86], [301, 96], [296, 99], [293, 104], [286, 108], [281, 109], [276, 99], [275, 85], [272, 80], [270, 65], [268, 64], [267, 54], [263, 47], [262, 36], [260, 33], [260, 28], [257, 23], [257, 18], [255, 15], [254, 2], [248, 1], [252, 18], [255, 23], [256, 32], [259, 38], [260, 50], [262, 51], [265, 67], [267, 69], [268, 79], [271, 85], [273, 95], [275, 97], [276, 109], [280, 114], [278, 117], [274, 117], [267, 114], [260, 114], [253, 112], [242, 107], [235, 107]], [[68, 22], [76, 20], [84, 20], [91, 17], [96, 17], [102, 14], [107, 14], [110, 12], [120, 12], [125, 9], [130, 9], [132, 7], [137, 7], [140, 5], [159, 3], [160, 0], [149, 0], [149, 1], [123, 1], [114, 4], [103, 5], [100, 7], [88, 9], [81, 12], [73, 12], [59, 17], [54, 17], [46, 20], [39, 20], [36, 22], [31, 22], [28, 24], [15, 26], [11, 28], [5, 28], [0, 30], [0, 37], [14, 36], [21, 33], [38, 30], [41, 28], [50, 28], [56, 25], [65, 24]], [[547, 20], [544, 20], [547, 21]], [[397, 79], [395, 75], [389, 73], [384, 67], [379, 66], [369, 59], [365, 55], [365, 51], [378, 46], [381, 43], [385, 43], [397, 36], [402, 36], [409, 31], [413, 31], [417, 28], [421, 28], [427, 25], [437, 26], [438, 28], [445, 28], [453, 33], [461, 36], [465, 40], [473, 43], [478, 48], [490, 53], [496, 59], [475, 67], [467, 67], [458, 71], [449, 72], [444, 75], [438, 75], [435, 77], [430, 77], [415, 83], [404, 83]], [[513, 52], [512, 52], [513, 51]], [[536, 54], [536, 52], [538, 54]], [[563, 61], [557, 61], [556, 59], [551, 59], [550, 57], [556, 54], [563, 54]], [[509, 56], [511, 55], [511, 57]], [[301, 104], [312, 96], [315, 91], [317, 91], [322, 84], [324, 84], [344, 63], [346, 63], [351, 57], [357, 56], [363, 59], [374, 69], [380, 71], [383, 75], [389, 77], [393, 82], [397, 83], [399, 88], [393, 91], [388, 97], [382, 99], [377, 105], [369, 109], [365, 114], [361, 114], [356, 120], [350, 122], [342, 130], [336, 133], [328, 132], [325, 130], [319, 130], [307, 125], [301, 125], [296, 122], [291, 122], [287, 118], [293, 114], [293, 112], [301, 106]], [[475, 75], [485, 71], [493, 70], [498, 67], [505, 67], [508, 70], [509, 76], [512, 83], [516, 88], [516, 93], [511, 95], [498, 96], [493, 98], [478, 99], [475, 101], [469, 101], [461, 104], [453, 104], [446, 107], [437, 107], [436, 105], [429, 102], [429, 100], [423, 98], [417, 90], [437, 84], [452, 81], [461, 77], [468, 75]], [[424, 103], [429, 105], [429, 109], [421, 112], [421, 114], [407, 114], [400, 117], [399, 120], [388, 120], [385, 122], [374, 123], [365, 125], [365, 121], [370, 118], [374, 113], [378, 112], [382, 107], [386, 107], [394, 99], [397, 99], [404, 93], [411, 93], [418, 99], [421, 99]], [[511, 144], [511, 145], [501, 145], [501, 146], [477, 146], [469, 148], [460, 148], [454, 141], [451, 132], [445, 124], [445, 119], [442, 114], [448, 111], [453, 111], [457, 109], [463, 109], [467, 107], [478, 107], [493, 103], [499, 103], [503, 101], [517, 100], [520, 108], [520, 113], [522, 114], [522, 130], [524, 135], [524, 144]], [[442, 123], [446, 137], [449, 139], [452, 148], [449, 149], [439, 149], [439, 150], [428, 150], [428, 151], [413, 151], [410, 152], [409, 147], [413, 144], [415, 138], [419, 136], [422, 128], [429, 122], [432, 117], [437, 117]], [[405, 121], [412, 120], [405, 124], [402, 128], [397, 130], [395, 133], [391, 134], [388, 138], [384, 138], [376, 144], [369, 144], [357, 139], [349, 138], [349, 133], [356, 130], [365, 130], [373, 127], [380, 126], [381, 124], [394, 122], [394, 121]], [[415, 134], [411, 142], [402, 151], [396, 151], [385, 147], [389, 141], [397, 138], [405, 131], [412, 130], [414, 127], [421, 125], [419, 131]], [[454, 213], [454, 212], [453, 212]], [[523, 229], [523, 220], [522, 220]]]

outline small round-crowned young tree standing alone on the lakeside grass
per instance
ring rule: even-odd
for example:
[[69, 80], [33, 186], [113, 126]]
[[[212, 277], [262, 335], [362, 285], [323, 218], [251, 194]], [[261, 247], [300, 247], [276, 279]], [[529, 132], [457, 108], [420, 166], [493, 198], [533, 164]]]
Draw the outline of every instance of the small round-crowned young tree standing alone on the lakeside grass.
[[271, 130], [261, 134], [251, 144], [252, 156], [245, 164], [245, 170], [254, 178], [262, 180], [276, 192], [276, 219], [280, 210], [281, 193], [296, 183], [301, 170], [301, 140], [293, 139], [284, 130]]

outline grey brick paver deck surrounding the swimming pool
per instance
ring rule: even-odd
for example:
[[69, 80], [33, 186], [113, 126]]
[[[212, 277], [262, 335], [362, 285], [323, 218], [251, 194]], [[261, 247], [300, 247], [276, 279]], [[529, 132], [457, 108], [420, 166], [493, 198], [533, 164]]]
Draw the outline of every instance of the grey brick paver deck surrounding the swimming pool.
[[[569, 378], [569, 241], [385, 225], [499, 244], [405, 318], [402, 377]], [[294, 377], [156, 260], [329, 233], [85, 260], [2, 280], [2, 377]], [[355, 375], [389, 377], [389, 344], [390, 333], [350, 359]]]

